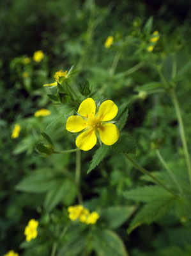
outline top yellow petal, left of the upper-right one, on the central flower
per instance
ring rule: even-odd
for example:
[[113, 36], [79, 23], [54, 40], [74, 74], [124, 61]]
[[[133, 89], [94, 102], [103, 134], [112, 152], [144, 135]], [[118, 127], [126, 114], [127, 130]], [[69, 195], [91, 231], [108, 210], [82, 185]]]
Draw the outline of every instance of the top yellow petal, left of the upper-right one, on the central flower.
[[84, 117], [93, 117], [96, 112], [96, 104], [92, 98], [84, 99], [77, 112]]

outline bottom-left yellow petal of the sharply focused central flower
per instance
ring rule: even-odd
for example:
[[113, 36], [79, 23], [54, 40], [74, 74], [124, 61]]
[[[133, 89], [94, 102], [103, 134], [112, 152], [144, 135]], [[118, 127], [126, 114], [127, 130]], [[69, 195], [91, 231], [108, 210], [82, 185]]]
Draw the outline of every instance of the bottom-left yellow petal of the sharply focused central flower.
[[93, 129], [82, 132], [76, 139], [75, 144], [78, 148], [88, 151], [96, 144], [97, 138]]

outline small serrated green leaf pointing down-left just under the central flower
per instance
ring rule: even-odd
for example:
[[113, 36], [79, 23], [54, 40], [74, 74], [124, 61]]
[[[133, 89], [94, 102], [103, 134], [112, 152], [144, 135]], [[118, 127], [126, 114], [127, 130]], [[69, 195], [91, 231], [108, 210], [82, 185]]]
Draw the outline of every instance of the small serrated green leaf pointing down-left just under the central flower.
[[90, 173], [93, 169], [95, 169], [98, 164], [103, 160], [103, 158], [107, 155], [109, 151], [109, 146], [103, 145], [100, 148], [98, 148], [93, 155], [93, 159], [91, 160], [91, 163], [89, 165], [88, 173]]

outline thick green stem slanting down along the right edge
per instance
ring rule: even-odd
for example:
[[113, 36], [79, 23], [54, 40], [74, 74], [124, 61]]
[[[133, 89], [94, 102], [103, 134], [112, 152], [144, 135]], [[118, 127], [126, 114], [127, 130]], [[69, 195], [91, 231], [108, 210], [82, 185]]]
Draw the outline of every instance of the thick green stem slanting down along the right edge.
[[186, 140], [186, 136], [185, 136], [185, 129], [184, 129], [184, 124], [183, 124], [183, 119], [181, 117], [181, 112], [180, 112], [180, 107], [179, 107], [179, 104], [178, 104], [178, 99], [176, 98], [176, 94], [175, 94], [174, 90], [171, 90], [171, 97], [172, 97], [172, 102], [174, 104], [174, 108], [176, 110], [176, 115], [177, 115], [177, 119], [178, 119], [178, 123], [179, 123], [179, 127], [180, 127], [180, 137], [181, 137], [181, 142], [183, 144], [183, 151], [184, 151], [185, 160], [186, 160], [186, 163], [187, 163], [188, 175], [189, 175], [190, 185], [191, 185], [190, 156], [189, 156], [189, 153], [188, 153], [188, 146], [187, 146], [187, 140]]

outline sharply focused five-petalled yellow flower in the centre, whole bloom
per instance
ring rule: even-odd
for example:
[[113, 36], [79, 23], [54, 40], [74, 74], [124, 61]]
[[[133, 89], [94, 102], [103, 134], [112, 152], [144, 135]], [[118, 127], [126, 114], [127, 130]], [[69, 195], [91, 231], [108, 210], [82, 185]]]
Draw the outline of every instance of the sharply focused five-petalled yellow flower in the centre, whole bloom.
[[66, 122], [68, 132], [80, 133], [75, 144], [78, 148], [88, 151], [97, 142], [96, 134], [105, 145], [112, 145], [119, 139], [118, 127], [111, 121], [118, 114], [118, 107], [111, 100], [104, 101], [96, 114], [96, 104], [92, 98], [85, 99], [78, 109], [79, 115], [71, 115]]

